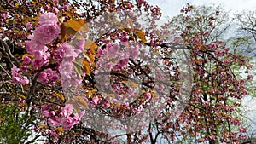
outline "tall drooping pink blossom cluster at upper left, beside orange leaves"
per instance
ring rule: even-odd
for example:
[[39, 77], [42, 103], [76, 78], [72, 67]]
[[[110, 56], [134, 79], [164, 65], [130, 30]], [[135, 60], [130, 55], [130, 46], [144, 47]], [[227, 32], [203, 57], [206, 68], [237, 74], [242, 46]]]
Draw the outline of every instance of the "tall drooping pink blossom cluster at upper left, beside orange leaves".
[[54, 13], [44, 13], [39, 17], [39, 25], [36, 27], [33, 35], [28, 36], [26, 41], [26, 51], [35, 55], [32, 61], [32, 66], [43, 66], [49, 59], [48, 47], [45, 44], [52, 42], [55, 38], [59, 37], [61, 32], [58, 26], [58, 18]]

